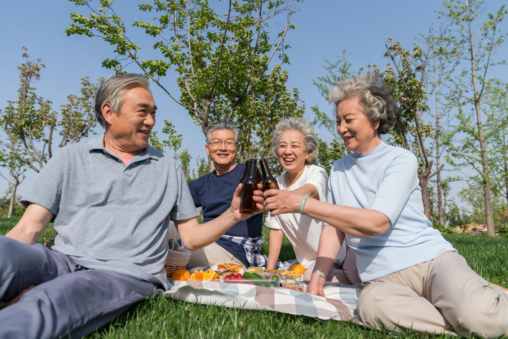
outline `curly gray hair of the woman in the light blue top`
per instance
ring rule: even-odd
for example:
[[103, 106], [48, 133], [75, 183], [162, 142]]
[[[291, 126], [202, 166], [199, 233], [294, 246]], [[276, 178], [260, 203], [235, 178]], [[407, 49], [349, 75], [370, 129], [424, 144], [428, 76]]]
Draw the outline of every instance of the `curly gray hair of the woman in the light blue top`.
[[395, 123], [398, 108], [392, 96], [392, 87], [383, 81], [382, 75], [360, 73], [347, 78], [330, 90], [328, 98], [335, 104], [335, 111], [341, 101], [357, 97], [363, 113], [371, 121], [379, 119], [377, 134], [386, 134]]

